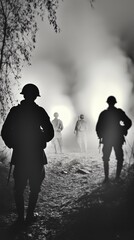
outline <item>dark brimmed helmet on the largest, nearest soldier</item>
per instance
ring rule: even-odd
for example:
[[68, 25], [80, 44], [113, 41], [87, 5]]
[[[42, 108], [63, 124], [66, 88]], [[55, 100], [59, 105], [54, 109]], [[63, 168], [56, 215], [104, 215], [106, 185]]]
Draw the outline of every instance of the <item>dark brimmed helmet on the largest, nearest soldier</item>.
[[26, 84], [23, 88], [20, 94], [33, 94], [36, 97], [40, 97], [39, 89], [36, 87], [36, 85], [32, 83]]

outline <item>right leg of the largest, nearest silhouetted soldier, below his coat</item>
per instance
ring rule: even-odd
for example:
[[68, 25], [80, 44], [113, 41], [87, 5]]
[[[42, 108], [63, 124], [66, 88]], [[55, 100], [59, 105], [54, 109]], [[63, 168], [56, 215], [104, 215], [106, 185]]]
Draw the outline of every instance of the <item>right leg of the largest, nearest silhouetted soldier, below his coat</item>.
[[32, 222], [34, 220], [34, 210], [36, 207], [36, 203], [38, 200], [38, 195], [40, 192], [41, 183], [45, 177], [45, 169], [44, 166], [39, 169], [34, 169], [29, 176], [29, 185], [30, 185], [30, 195], [27, 209], [26, 221], [27, 223]]

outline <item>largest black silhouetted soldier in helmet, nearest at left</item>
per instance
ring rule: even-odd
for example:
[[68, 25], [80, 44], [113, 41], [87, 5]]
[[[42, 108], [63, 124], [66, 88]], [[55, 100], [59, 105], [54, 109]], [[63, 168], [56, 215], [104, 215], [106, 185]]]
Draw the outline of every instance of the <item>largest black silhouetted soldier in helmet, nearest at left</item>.
[[[21, 94], [24, 100], [12, 107], [1, 131], [1, 136], [9, 148], [13, 148], [11, 164], [14, 165], [14, 196], [17, 208], [17, 225], [31, 224], [35, 220], [34, 209], [42, 181], [45, 177], [44, 152], [46, 142], [54, 136], [53, 126], [44, 108], [34, 101], [40, 96], [34, 84], [26, 84]], [[29, 202], [24, 219], [23, 193], [29, 182]]]

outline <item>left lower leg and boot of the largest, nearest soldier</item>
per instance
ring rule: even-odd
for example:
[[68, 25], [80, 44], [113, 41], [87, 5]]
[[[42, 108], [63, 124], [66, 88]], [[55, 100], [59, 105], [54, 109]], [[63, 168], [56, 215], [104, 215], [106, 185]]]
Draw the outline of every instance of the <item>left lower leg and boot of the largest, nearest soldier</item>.
[[24, 223], [24, 197], [23, 193], [20, 192], [15, 192], [15, 204], [16, 204], [16, 209], [17, 209], [17, 214], [18, 214], [18, 219], [17, 222], [18, 224], [23, 224]]

